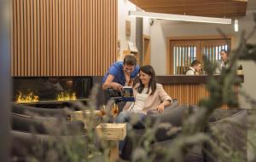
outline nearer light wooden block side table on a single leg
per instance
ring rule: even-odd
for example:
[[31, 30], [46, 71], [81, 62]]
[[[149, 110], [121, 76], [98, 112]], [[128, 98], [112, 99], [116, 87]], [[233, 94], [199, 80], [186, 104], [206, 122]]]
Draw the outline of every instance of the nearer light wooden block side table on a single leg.
[[126, 136], [126, 124], [99, 124], [96, 126], [96, 134], [102, 140], [113, 142], [109, 158], [111, 161], [117, 161], [119, 159], [119, 141], [124, 140]]

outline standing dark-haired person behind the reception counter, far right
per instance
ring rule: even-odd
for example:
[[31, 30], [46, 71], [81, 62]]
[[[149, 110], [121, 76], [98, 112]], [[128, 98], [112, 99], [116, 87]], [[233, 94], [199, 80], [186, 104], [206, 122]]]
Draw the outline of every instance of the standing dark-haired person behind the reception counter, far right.
[[220, 74], [221, 72], [223, 72], [224, 69], [229, 67], [228, 65], [229, 55], [225, 49], [220, 50], [220, 58], [221, 58], [221, 61], [218, 61], [217, 67], [215, 70], [216, 74]]

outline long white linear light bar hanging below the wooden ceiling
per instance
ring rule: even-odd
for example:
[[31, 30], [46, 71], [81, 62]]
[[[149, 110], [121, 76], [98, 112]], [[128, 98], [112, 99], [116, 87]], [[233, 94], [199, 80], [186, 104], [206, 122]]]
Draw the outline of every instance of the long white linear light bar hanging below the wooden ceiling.
[[214, 17], [202, 17], [194, 15], [182, 15], [182, 14], [160, 14], [142, 11], [129, 11], [130, 16], [163, 19], [163, 20], [183, 20], [192, 22], [207, 22], [207, 23], [218, 23], [218, 24], [231, 24], [231, 19], [214, 18]]

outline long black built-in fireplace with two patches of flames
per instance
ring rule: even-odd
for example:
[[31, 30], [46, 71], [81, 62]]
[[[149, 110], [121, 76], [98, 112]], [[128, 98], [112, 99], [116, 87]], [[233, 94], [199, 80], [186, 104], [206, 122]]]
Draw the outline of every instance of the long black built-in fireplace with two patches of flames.
[[86, 101], [92, 77], [15, 77], [13, 101], [19, 104]]

